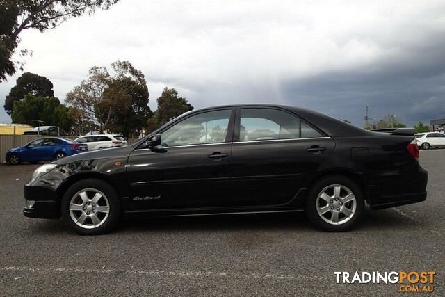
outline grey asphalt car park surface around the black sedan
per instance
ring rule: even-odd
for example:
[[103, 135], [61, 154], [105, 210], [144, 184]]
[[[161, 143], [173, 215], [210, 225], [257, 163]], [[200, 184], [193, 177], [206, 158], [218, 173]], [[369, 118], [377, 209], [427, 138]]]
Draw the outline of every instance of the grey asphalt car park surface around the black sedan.
[[421, 151], [421, 164], [425, 202], [366, 209], [351, 232], [257, 214], [133, 218], [102, 236], [25, 218], [37, 166], [0, 166], [0, 294], [398, 296], [399, 284], [337, 284], [334, 271], [435, 271], [432, 294], [445, 296], [445, 150]]

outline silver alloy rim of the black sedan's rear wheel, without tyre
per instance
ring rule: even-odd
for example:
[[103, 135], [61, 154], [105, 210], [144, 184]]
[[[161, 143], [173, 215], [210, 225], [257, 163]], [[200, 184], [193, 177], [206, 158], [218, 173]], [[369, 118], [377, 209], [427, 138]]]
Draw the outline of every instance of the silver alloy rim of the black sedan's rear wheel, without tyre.
[[318, 216], [331, 225], [341, 225], [355, 214], [357, 200], [353, 191], [341, 184], [331, 184], [318, 193], [316, 200]]

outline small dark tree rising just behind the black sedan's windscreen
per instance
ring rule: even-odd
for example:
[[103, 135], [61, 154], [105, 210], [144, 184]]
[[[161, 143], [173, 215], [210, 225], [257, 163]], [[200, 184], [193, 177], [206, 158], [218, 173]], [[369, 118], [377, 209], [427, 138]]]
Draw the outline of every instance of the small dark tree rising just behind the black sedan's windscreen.
[[147, 122], [148, 129], [154, 131], [178, 115], [191, 110], [193, 106], [185, 98], [178, 97], [177, 90], [165, 87], [161, 97], [158, 98], [158, 109], [154, 112], [153, 119]]

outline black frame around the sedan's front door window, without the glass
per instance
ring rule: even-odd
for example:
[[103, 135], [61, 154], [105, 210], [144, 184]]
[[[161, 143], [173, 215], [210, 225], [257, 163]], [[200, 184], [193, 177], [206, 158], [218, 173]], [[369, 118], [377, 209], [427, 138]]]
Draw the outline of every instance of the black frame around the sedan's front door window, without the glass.
[[[229, 123], [227, 125], [227, 135], [225, 136], [225, 141], [221, 142], [221, 143], [196, 143], [193, 145], [172, 145], [172, 146], [168, 146], [168, 147], [159, 147], [159, 148], [163, 148], [163, 149], [168, 149], [168, 148], [172, 148], [172, 147], [191, 147], [191, 146], [201, 146], [201, 145], [220, 145], [220, 144], [225, 144], [225, 143], [232, 143], [232, 138], [233, 138], [233, 133], [234, 133], [234, 121], [235, 121], [235, 115], [236, 115], [236, 108], [235, 107], [219, 107], [216, 109], [206, 109], [204, 111], [197, 111], [197, 112], [192, 112], [189, 115], [186, 115], [184, 117], [179, 118], [178, 120], [175, 120], [173, 122], [170, 122], [170, 125], [167, 125], [165, 127], [162, 127], [161, 130], [156, 131], [156, 134], [162, 134], [164, 131], [167, 131], [168, 129], [170, 129], [170, 127], [173, 127], [177, 124], [179, 124], [180, 122], [182, 122], [183, 120], [186, 120], [188, 118], [191, 118], [195, 115], [200, 115], [202, 113], [209, 113], [209, 112], [213, 112], [213, 111], [230, 111], [230, 117], [229, 117]], [[140, 143], [140, 145], [138, 145], [138, 147], [135, 148], [135, 150], [152, 150], [151, 148], [147, 148], [144, 147], [143, 145], [146, 143], [147, 141], [144, 141], [143, 143]]]

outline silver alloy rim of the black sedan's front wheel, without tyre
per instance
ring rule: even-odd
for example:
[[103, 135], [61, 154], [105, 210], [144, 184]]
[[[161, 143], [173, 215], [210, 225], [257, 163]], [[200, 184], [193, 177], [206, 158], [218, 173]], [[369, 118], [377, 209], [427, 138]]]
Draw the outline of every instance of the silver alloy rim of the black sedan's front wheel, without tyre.
[[77, 192], [70, 201], [70, 216], [76, 225], [93, 229], [105, 223], [110, 213], [108, 199], [95, 188]]

